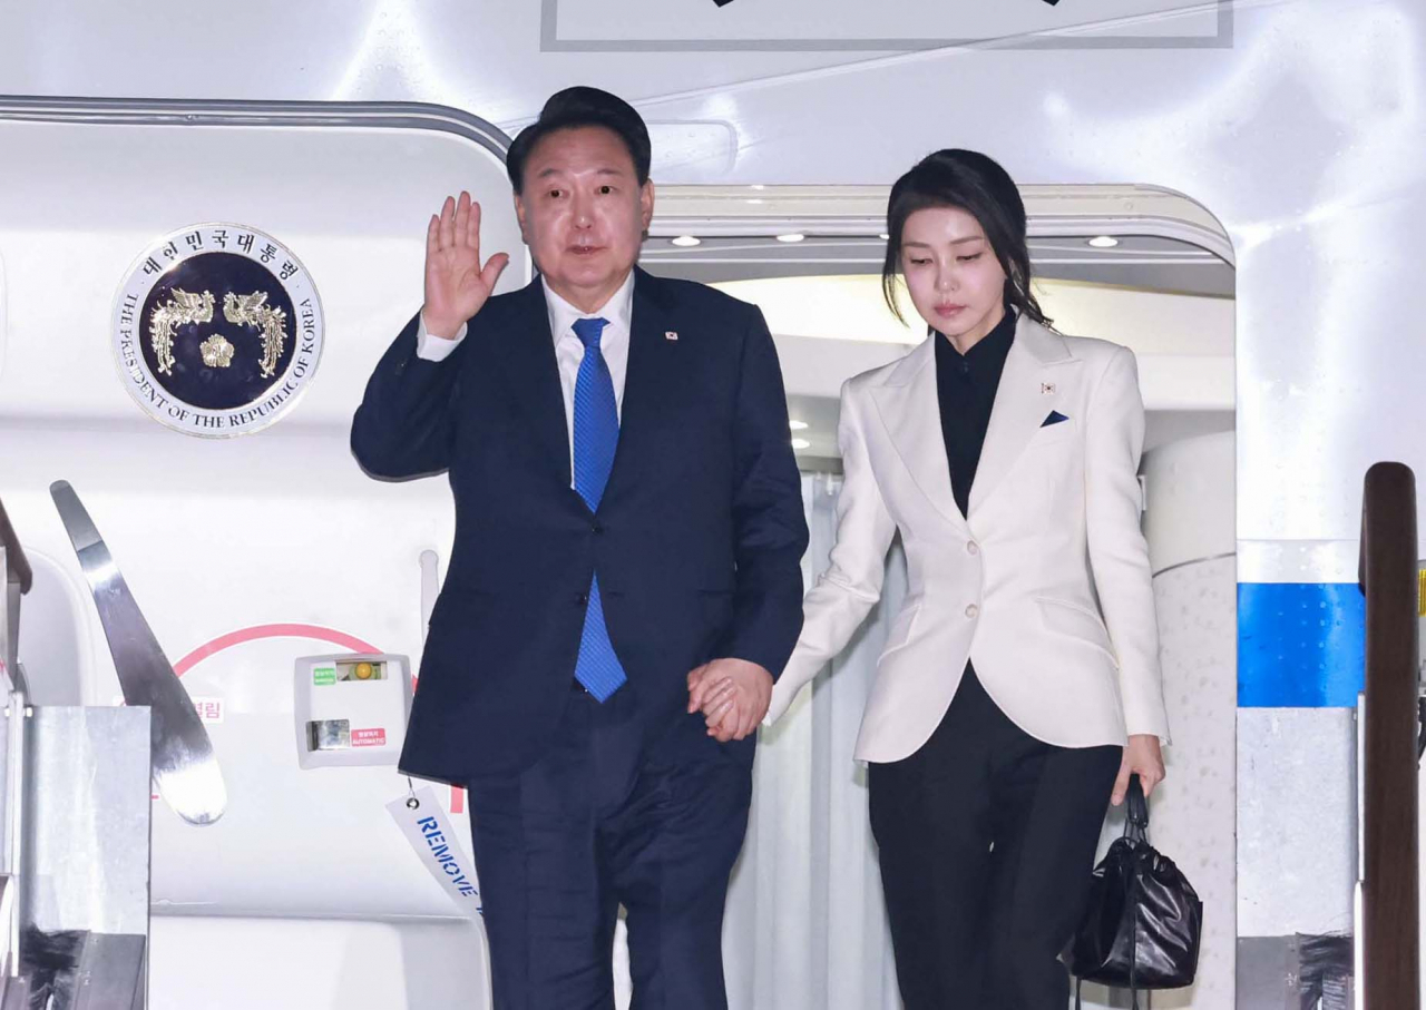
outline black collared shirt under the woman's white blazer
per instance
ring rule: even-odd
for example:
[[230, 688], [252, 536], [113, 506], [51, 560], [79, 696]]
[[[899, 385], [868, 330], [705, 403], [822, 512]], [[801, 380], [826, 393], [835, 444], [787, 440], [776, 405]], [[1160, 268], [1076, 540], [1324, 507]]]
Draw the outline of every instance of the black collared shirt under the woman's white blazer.
[[951, 467], [951, 491], [961, 514], [970, 511], [971, 484], [980, 464], [990, 412], [995, 406], [1000, 373], [1015, 340], [1015, 313], [983, 336], [967, 353], [955, 349], [943, 333], [935, 335], [935, 392], [941, 403], [941, 436]]

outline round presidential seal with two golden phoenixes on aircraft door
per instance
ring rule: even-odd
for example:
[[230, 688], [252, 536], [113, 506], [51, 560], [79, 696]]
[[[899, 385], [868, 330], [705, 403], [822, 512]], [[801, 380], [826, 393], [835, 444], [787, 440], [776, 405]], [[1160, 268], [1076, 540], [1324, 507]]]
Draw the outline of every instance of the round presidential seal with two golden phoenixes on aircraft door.
[[248, 434], [291, 410], [312, 380], [322, 303], [271, 235], [194, 225], [134, 262], [116, 299], [114, 356], [154, 420], [185, 434]]

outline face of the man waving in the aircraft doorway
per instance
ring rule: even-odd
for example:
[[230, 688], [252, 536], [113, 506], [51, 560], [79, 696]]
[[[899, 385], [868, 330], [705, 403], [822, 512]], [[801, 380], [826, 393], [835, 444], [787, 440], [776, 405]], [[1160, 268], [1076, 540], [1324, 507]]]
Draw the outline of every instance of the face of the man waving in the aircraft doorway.
[[613, 131], [560, 130], [530, 151], [515, 212], [545, 283], [593, 312], [639, 259], [653, 184], [639, 184], [629, 148]]

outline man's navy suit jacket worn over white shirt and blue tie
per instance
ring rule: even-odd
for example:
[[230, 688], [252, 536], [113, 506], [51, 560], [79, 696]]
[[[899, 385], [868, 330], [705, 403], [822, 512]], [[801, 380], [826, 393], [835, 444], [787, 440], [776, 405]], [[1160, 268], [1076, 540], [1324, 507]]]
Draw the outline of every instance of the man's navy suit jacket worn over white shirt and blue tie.
[[[692, 718], [686, 677], [709, 660], [781, 674], [801, 630], [807, 526], [756, 306], [636, 271], [619, 449], [596, 513], [570, 487], [540, 281], [486, 302], [443, 362], [416, 356], [416, 325], [376, 366], [351, 437], [368, 473], [445, 470], [455, 496], [402, 771], [468, 782], [540, 758], [596, 570], [646, 736]], [[752, 739], [736, 751], [750, 759]]]

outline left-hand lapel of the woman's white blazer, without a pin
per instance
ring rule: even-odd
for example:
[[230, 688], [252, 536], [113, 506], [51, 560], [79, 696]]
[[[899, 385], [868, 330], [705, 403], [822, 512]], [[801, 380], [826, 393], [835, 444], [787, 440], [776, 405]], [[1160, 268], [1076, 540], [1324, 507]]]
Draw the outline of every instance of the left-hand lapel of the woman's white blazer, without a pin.
[[935, 390], [937, 336], [928, 336], [921, 346], [901, 359], [887, 382], [874, 386], [873, 400], [881, 423], [891, 436], [906, 469], [935, 510], [958, 527], [965, 517], [955, 504], [951, 490], [951, 469], [945, 459], [945, 437], [941, 434], [941, 403]]

